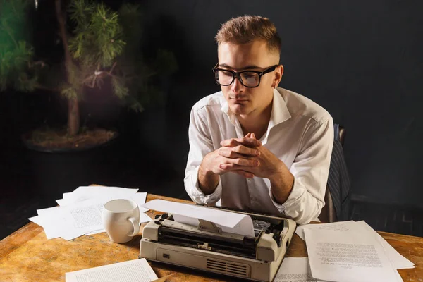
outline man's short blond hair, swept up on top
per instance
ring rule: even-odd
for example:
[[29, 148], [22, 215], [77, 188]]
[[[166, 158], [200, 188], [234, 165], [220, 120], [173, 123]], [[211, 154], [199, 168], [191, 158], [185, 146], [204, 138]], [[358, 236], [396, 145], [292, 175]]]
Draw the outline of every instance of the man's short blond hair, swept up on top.
[[223, 42], [245, 44], [260, 39], [266, 41], [269, 51], [281, 54], [281, 37], [269, 18], [248, 15], [231, 18], [221, 25], [216, 35], [218, 45]]

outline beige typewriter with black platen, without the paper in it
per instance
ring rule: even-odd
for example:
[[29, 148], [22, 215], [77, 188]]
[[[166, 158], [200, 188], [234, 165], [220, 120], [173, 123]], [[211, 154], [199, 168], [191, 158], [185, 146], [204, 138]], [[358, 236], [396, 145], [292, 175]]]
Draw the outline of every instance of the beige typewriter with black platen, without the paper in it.
[[178, 223], [171, 214], [163, 214], [142, 231], [140, 257], [253, 281], [272, 281], [295, 232], [295, 221], [226, 210], [250, 216], [255, 237], [226, 233], [200, 219], [199, 226]]

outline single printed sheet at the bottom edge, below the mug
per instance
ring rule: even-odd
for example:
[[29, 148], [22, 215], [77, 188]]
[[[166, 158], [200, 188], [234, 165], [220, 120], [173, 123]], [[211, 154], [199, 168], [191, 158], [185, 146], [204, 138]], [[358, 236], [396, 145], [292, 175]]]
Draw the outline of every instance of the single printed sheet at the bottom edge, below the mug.
[[134, 259], [66, 273], [66, 282], [149, 282], [157, 279], [146, 259]]

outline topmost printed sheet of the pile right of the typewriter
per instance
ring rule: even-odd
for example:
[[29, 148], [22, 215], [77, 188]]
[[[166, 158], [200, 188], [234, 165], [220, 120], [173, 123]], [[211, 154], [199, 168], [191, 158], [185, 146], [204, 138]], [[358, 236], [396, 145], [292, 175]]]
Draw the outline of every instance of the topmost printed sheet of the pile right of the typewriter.
[[343, 282], [397, 282], [396, 269], [379, 240], [364, 228], [343, 232], [305, 229], [313, 278]]

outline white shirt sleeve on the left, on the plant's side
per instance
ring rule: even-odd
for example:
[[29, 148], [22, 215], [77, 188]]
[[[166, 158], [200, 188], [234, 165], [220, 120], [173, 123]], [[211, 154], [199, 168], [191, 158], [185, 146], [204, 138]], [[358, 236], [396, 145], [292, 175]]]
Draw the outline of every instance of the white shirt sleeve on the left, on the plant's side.
[[185, 190], [198, 204], [216, 204], [222, 195], [221, 180], [212, 194], [204, 195], [198, 183], [198, 170], [204, 156], [214, 151], [210, 130], [207, 121], [201, 114], [202, 109], [191, 110], [190, 126], [188, 128], [188, 139], [190, 140], [190, 152], [188, 153], [187, 166], [185, 168]]

